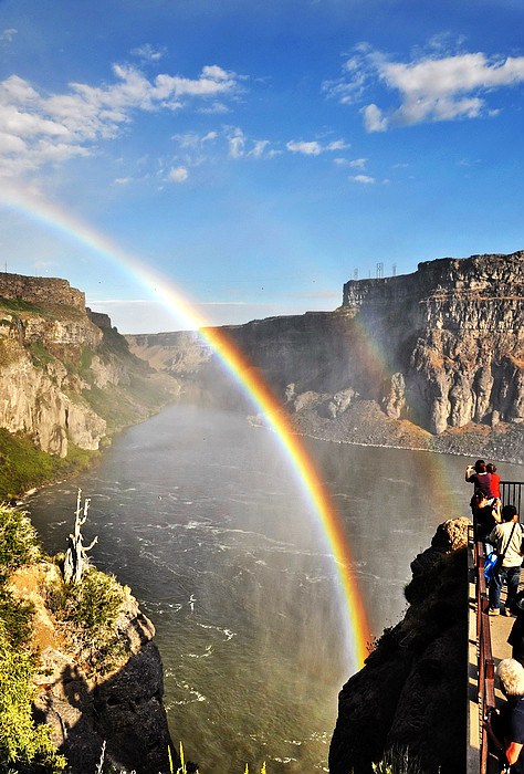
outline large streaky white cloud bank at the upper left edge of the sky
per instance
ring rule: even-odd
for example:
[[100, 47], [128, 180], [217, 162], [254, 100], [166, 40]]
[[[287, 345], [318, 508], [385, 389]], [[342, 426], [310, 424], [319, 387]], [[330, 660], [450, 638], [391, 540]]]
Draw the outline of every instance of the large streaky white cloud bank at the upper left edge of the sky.
[[[0, 82], [0, 175], [86, 156], [99, 140], [117, 137], [138, 111], [174, 112], [195, 101], [233, 96], [240, 88], [239, 76], [218, 65], [202, 67], [196, 79], [160, 74], [149, 81], [128, 64], [114, 65], [113, 73], [108, 85], [70, 83], [66, 92], [51, 95], [18, 75]], [[214, 136], [208, 133], [201, 142]]]

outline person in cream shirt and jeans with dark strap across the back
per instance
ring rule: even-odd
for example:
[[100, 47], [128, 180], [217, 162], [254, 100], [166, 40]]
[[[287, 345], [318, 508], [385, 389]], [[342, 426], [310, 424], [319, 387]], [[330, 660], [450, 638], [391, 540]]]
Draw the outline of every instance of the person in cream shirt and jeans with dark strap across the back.
[[512, 607], [517, 598], [522, 565], [522, 527], [518, 524], [518, 513], [514, 505], [504, 505], [502, 523], [493, 527], [489, 541], [495, 546], [500, 558], [490, 583], [488, 613], [490, 616], [499, 615], [501, 590], [505, 580], [507, 583], [507, 599], [504, 614], [511, 616]]

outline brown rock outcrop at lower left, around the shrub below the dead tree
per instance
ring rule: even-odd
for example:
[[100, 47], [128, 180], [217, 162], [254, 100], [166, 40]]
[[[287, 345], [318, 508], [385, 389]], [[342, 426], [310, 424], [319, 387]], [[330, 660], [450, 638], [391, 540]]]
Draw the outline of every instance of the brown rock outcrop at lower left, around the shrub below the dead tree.
[[74, 774], [96, 771], [103, 745], [106, 764], [116, 771], [169, 771], [163, 665], [151, 621], [125, 589], [115, 621], [124, 652], [101, 674], [90, 669], [49, 608], [49, 589], [60, 583], [60, 569], [50, 563], [21, 567], [10, 579], [11, 590], [34, 609], [33, 647], [40, 649], [35, 720], [51, 726], [52, 742]]

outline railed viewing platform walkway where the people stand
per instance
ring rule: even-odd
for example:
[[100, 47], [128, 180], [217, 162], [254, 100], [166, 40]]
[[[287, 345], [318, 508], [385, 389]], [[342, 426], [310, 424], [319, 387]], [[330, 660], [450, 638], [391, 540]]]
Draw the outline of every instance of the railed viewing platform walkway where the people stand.
[[[515, 505], [524, 521], [524, 483], [501, 481], [503, 505]], [[523, 524], [524, 526], [524, 524]], [[469, 576], [469, 629], [468, 629], [468, 774], [499, 774], [497, 759], [489, 753], [488, 733], [483, 720], [491, 708], [505, 701], [495, 688], [494, 673], [502, 659], [511, 658], [512, 648], [507, 637], [515, 616], [489, 616], [488, 587], [484, 578], [484, 544], [475, 541], [473, 525], [470, 527], [468, 546]], [[520, 590], [523, 589], [521, 571]], [[506, 592], [503, 588], [501, 609], [505, 609]]]

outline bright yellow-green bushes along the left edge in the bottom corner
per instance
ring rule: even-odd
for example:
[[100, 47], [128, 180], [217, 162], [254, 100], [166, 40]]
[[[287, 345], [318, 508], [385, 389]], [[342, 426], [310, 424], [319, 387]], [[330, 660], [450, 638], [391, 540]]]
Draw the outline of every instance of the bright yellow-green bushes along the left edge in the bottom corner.
[[49, 729], [31, 714], [35, 657], [30, 649], [31, 605], [15, 599], [7, 580], [39, 557], [34, 530], [24, 514], [0, 505], [0, 774], [57, 774], [66, 762]]

